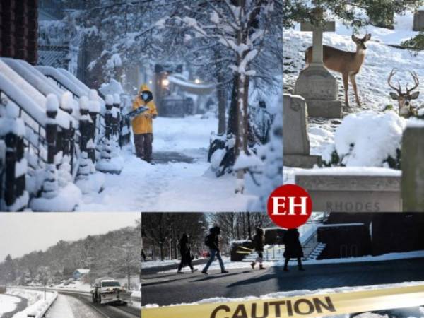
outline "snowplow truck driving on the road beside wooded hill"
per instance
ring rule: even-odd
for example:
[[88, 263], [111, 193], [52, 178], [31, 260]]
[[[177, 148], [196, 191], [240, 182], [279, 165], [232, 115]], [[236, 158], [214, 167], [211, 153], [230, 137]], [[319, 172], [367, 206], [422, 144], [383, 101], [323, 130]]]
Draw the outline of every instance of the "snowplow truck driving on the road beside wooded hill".
[[91, 295], [93, 302], [98, 302], [100, 305], [126, 305], [131, 298], [131, 293], [128, 293], [119, 284], [119, 281], [111, 278], [100, 278], [96, 280], [94, 288], [91, 290]]

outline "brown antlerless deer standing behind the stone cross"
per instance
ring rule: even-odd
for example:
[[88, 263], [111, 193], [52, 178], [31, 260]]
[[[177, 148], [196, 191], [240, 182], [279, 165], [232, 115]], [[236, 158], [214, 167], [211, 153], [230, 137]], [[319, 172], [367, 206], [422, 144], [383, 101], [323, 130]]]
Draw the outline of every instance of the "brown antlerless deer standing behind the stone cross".
[[[324, 60], [324, 66], [327, 69], [341, 73], [343, 77], [343, 86], [345, 90], [345, 105], [349, 107], [348, 100], [348, 88], [349, 78], [355, 92], [356, 104], [360, 107], [360, 100], [358, 96], [358, 88], [356, 87], [356, 74], [359, 73], [361, 66], [365, 61], [365, 42], [370, 40], [371, 35], [366, 34], [365, 37], [359, 38], [352, 35], [352, 40], [356, 44], [356, 52], [343, 51], [336, 49], [335, 47], [329, 47], [328, 45], [322, 46], [322, 54]], [[306, 66], [312, 61], [312, 47], [308, 47], [305, 52]]]

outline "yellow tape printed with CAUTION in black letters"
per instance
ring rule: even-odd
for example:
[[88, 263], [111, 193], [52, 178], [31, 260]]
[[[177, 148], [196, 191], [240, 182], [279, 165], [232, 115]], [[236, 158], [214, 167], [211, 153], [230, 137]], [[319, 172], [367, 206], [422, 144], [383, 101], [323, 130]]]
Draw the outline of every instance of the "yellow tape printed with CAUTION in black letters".
[[141, 309], [142, 318], [325, 317], [424, 305], [424, 285]]

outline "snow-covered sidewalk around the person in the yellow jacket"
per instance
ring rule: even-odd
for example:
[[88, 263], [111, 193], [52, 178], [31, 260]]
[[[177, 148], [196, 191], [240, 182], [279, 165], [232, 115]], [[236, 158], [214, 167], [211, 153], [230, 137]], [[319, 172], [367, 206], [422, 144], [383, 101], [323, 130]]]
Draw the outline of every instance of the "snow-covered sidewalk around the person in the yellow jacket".
[[83, 196], [79, 211], [245, 211], [251, 194], [235, 194], [235, 176], [216, 178], [207, 152], [217, 119], [158, 117], [153, 122], [153, 153], [175, 151], [193, 163], [150, 165], [124, 149], [120, 175], [105, 175], [105, 190]]

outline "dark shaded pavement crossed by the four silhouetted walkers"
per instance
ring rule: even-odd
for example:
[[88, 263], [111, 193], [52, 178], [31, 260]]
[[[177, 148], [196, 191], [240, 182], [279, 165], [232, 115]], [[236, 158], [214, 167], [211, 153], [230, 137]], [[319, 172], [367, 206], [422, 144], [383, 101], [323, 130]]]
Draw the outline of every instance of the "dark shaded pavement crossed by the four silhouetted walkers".
[[343, 286], [424, 281], [424, 258], [363, 263], [306, 265], [306, 271], [290, 266], [230, 269], [230, 273], [142, 273], [142, 305], [172, 305], [204, 298], [259, 296], [290, 290], [316, 290]]

